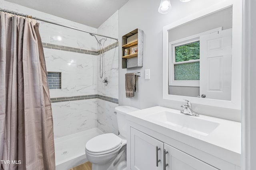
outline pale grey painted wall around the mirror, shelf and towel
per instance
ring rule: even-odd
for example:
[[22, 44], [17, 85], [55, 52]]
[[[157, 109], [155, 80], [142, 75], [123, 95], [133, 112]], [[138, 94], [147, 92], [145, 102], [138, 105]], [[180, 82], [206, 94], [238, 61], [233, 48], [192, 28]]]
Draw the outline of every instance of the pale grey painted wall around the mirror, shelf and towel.
[[[220, 2], [222, 0], [192, 0], [186, 3], [182, 3], [179, 0], [171, 0], [172, 11], [168, 14], [158, 13], [160, 0], [129, 0], [120, 8], [119, 39], [122, 39], [122, 35], [139, 28], [144, 31], [144, 40], [142, 68], [122, 69], [122, 60], [119, 60], [119, 105], [129, 105], [140, 109], [152, 106], [180, 109], [180, 106], [184, 104], [183, 102], [163, 100], [162, 98], [163, 26]], [[121, 47], [119, 47], [119, 53], [122, 54]], [[150, 69], [150, 80], [144, 79], [145, 69]], [[135, 93], [134, 99], [126, 98], [125, 96], [124, 74], [126, 72], [142, 73], [142, 76], [138, 77], [137, 92]], [[240, 110], [199, 104], [193, 104], [193, 108], [200, 114], [241, 121]]]

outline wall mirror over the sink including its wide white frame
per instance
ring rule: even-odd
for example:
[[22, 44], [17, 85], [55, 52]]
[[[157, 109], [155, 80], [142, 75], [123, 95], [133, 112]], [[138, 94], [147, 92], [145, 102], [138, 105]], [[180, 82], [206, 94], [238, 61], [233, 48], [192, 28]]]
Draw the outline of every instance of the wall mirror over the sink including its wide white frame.
[[236, 5], [220, 4], [164, 27], [164, 99], [240, 109], [242, 35]]

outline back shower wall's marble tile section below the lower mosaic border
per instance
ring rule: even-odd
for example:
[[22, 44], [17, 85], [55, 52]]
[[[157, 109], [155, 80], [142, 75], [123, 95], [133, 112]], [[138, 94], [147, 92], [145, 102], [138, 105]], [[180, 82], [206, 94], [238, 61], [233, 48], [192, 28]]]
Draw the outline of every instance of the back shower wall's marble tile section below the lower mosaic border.
[[54, 138], [97, 127], [97, 102], [96, 98], [52, 103]]

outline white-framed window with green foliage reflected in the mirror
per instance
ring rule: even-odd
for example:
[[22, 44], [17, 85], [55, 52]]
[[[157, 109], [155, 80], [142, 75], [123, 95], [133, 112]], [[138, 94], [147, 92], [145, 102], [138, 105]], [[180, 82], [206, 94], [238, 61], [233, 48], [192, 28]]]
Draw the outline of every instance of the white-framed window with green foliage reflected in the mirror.
[[200, 41], [188, 41], [172, 44], [171, 47], [170, 86], [199, 86], [200, 80]]

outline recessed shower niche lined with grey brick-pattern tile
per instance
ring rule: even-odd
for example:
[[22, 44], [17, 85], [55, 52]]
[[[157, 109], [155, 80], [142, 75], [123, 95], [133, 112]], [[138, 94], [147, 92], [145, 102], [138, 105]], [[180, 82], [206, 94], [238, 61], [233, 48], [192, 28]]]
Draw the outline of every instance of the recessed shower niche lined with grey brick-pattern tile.
[[49, 89], [61, 89], [61, 72], [47, 72]]

